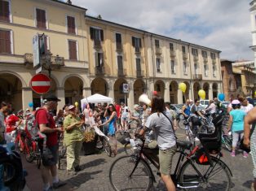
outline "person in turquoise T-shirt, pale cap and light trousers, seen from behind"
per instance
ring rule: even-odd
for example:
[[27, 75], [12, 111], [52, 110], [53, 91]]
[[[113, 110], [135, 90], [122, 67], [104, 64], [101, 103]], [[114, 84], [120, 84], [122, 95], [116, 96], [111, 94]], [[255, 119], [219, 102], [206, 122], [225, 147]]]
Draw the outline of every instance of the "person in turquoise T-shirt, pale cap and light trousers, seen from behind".
[[[227, 130], [232, 129], [232, 157], [236, 156], [236, 145], [239, 138], [244, 136], [244, 119], [245, 111], [241, 110], [241, 102], [237, 99], [232, 101], [232, 111], [229, 113], [229, 121]], [[244, 157], [247, 158], [248, 154], [244, 151]]]

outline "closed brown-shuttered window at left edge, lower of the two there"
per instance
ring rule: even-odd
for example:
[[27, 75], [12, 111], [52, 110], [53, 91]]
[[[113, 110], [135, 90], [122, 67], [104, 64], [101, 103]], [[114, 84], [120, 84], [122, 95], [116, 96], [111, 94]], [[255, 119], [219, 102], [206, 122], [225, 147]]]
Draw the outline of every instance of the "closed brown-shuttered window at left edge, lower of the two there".
[[0, 30], [0, 53], [11, 54], [11, 31]]

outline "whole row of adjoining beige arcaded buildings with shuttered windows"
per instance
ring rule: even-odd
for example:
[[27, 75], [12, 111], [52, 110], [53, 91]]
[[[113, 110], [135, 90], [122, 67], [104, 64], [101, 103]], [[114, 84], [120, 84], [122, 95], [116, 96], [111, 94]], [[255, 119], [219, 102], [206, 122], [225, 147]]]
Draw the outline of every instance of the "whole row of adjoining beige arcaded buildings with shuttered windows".
[[[172, 103], [198, 98], [199, 89], [206, 99], [222, 92], [218, 50], [85, 16], [85, 8], [64, 2], [0, 4], [0, 101], [12, 102], [15, 110], [40, 105], [29, 81], [36, 73], [33, 37], [42, 34], [43, 52], [51, 51], [42, 72], [51, 72], [50, 93], [61, 99], [60, 107], [94, 93], [132, 106], [153, 90]], [[187, 85], [184, 96], [180, 82]]]

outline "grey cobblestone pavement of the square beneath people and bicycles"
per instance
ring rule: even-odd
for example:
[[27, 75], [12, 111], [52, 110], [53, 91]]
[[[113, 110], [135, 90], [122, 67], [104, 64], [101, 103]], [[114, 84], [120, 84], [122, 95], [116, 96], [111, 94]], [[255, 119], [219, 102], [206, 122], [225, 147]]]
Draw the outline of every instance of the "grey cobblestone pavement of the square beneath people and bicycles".
[[[178, 131], [177, 137], [182, 140], [184, 137], [183, 133]], [[122, 145], [118, 145], [118, 147], [119, 153], [117, 156], [123, 154]], [[63, 161], [59, 175], [61, 180], [65, 180], [67, 182], [67, 185], [59, 190], [113, 190], [109, 183], [108, 171], [115, 159], [116, 158], [109, 158], [104, 152], [86, 156], [81, 155], [82, 171], [79, 171], [75, 176], [70, 176], [68, 173], [66, 173], [65, 163]], [[250, 190], [249, 186], [253, 180], [253, 165], [251, 157], [249, 156], [248, 158], [243, 158], [242, 153], [240, 153], [237, 154], [235, 158], [232, 158], [229, 152], [223, 150], [222, 159], [232, 170], [232, 190]], [[174, 159], [174, 165], [175, 160], [176, 159]], [[40, 177], [40, 171], [36, 168], [35, 164], [27, 163], [24, 164], [24, 167], [26, 167], [29, 171], [29, 176], [27, 176], [27, 184], [29, 189], [32, 191], [38, 191], [38, 189], [41, 190], [42, 180]], [[157, 169], [152, 170], [155, 172], [157, 171]], [[156, 176], [156, 178], [157, 182], [154, 183], [153, 190], [165, 190], [163, 183], [161, 180], [159, 180], [159, 177]]]

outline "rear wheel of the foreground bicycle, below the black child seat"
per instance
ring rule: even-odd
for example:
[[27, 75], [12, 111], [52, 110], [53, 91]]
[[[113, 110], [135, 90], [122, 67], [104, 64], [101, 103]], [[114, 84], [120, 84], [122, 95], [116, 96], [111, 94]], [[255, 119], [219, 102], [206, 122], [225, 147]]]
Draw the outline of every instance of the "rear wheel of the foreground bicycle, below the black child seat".
[[187, 160], [180, 169], [179, 185], [189, 190], [221, 190], [231, 189], [231, 178], [227, 168], [218, 158], [211, 158], [210, 164], [198, 164], [195, 160]]

